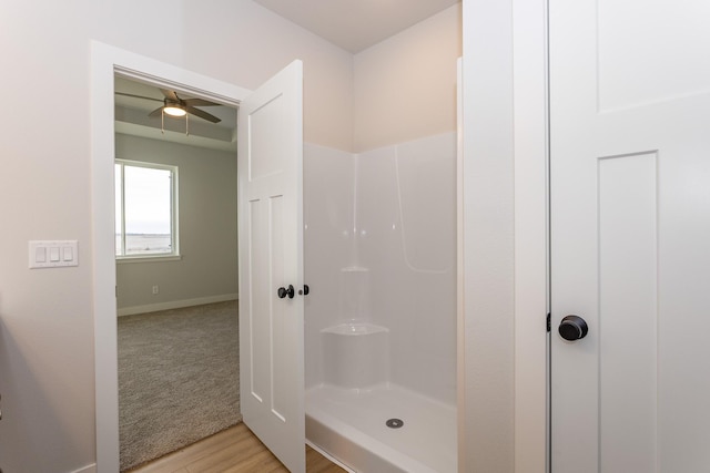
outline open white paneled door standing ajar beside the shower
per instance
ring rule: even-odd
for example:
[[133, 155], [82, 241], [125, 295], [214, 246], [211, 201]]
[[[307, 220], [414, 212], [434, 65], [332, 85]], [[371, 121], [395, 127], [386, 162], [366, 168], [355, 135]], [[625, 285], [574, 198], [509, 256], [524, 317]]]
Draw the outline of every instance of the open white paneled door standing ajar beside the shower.
[[241, 102], [237, 125], [242, 414], [294, 473], [305, 472], [302, 91], [295, 61]]

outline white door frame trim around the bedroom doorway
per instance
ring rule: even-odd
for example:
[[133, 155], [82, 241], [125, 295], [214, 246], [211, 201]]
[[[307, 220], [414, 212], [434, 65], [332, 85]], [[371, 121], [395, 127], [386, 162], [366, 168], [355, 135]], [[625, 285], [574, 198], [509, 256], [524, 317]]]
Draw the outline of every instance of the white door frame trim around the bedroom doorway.
[[[114, 249], [114, 74], [239, 105], [250, 90], [98, 41], [91, 42], [91, 203], [97, 470], [119, 471]], [[237, 110], [239, 113], [239, 110]]]

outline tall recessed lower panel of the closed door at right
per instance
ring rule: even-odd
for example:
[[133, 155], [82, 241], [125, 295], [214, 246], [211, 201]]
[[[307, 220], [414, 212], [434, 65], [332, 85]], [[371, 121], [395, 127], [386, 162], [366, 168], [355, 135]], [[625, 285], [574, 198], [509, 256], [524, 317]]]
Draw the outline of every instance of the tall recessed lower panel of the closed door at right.
[[602, 472], [656, 471], [656, 153], [598, 161]]

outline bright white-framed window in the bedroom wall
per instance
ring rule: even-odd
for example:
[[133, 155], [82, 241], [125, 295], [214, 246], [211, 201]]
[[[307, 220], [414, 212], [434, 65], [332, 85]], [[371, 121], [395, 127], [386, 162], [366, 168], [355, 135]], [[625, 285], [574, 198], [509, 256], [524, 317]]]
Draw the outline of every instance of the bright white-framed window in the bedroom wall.
[[178, 167], [115, 161], [115, 256], [178, 256]]

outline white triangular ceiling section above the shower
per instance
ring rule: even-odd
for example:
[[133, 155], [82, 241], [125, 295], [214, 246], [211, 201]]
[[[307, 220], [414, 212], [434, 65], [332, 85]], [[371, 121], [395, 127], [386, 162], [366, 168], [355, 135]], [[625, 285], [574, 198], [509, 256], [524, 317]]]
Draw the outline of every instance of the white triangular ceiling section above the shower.
[[254, 0], [352, 53], [377, 44], [460, 0]]

